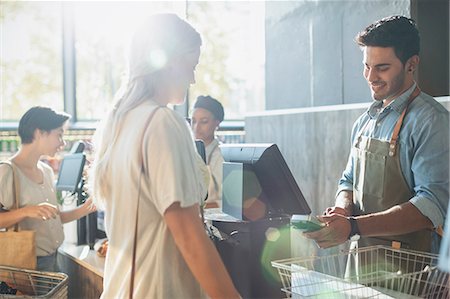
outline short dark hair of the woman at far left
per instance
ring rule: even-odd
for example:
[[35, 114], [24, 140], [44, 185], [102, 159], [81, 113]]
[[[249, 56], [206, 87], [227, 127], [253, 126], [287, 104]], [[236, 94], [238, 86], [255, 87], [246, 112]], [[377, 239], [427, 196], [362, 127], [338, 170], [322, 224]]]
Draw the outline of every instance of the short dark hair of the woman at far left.
[[50, 132], [64, 125], [70, 115], [64, 112], [35, 106], [30, 108], [19, 121], [19, 136], [22, 144], [32, 143], [36, 129]]

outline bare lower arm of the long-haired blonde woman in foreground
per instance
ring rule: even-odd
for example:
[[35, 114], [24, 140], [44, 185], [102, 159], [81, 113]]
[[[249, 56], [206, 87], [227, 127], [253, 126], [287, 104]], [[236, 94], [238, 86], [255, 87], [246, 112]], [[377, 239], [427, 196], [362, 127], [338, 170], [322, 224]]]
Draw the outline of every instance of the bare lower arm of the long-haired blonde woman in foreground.
[[189, 269], [211, 298], [240, 298], [213, 243], [206, 236], [198, 205], [172, 204], [164, 220]]

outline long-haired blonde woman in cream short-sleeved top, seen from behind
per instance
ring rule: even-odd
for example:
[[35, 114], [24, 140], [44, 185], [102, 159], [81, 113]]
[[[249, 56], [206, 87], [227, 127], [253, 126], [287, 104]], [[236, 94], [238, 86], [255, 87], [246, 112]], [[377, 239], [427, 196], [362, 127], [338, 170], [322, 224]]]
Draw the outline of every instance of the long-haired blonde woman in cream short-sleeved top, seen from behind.
[[102, 298], [239, 297], [200, 218], [207, 169], [187, 122], [167, 107], [195, 83], [200, 46], [174, 14], [153, 15], [132, 39], [89, 176], [109, 240]]

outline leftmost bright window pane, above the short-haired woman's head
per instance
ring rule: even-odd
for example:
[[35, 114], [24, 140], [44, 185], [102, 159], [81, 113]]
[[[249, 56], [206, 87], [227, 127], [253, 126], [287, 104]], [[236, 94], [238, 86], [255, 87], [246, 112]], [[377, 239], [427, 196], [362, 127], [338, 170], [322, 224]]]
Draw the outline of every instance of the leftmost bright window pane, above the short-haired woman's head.
[[0, 10], [0, 121], [35, 105], [63, 110], [61, 4], [2, 1]]

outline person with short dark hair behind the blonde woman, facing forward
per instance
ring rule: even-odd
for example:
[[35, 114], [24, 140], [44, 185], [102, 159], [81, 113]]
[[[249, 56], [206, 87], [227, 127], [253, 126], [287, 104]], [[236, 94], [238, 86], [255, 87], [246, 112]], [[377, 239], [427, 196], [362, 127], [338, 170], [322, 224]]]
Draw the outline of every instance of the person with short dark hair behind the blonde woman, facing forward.
[[223, 121], [222, 104], [211, 96], [199, 96], [194, 104], [191, 126], [195, 138], [205, 144], [206, 164], [210, 172], [208, 198], [205, 208], [222, 207], [223, 156], [215, 132]]

